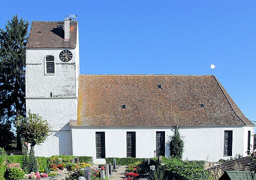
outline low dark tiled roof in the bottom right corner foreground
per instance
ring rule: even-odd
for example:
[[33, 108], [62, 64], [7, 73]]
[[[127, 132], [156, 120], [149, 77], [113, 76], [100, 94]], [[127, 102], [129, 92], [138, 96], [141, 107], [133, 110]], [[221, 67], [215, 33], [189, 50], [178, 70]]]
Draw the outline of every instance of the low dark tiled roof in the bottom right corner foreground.
[[207, 170], [214, 171], [216, 169], [221, 169], [222, 171], [249, 171], [250, 170], [249, 164], [251, 162], [252, 162], [252, 159], [246, 156], [246, 157], [234, 159], [231, 161], [226, 161], [225, 163], [211, 167]]

